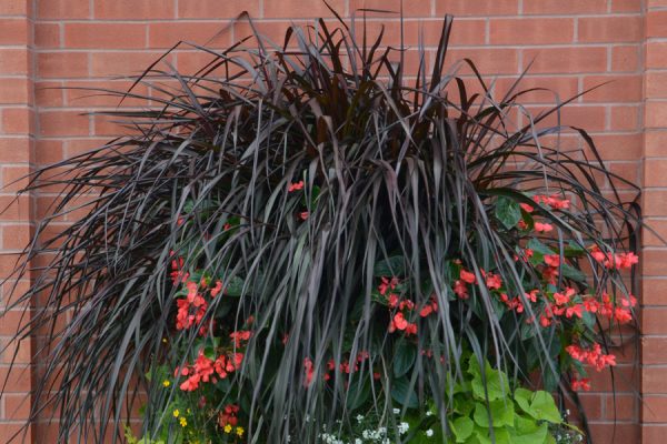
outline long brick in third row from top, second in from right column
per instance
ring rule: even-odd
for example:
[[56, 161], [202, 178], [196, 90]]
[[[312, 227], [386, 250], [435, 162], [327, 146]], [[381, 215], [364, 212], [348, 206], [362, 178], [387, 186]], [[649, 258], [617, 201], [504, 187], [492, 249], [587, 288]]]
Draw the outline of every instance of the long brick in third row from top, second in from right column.
[[605, 72], [607, 49], [593, 48], [539, 48], [524, 50], [524, 68], [535, 59], [531, 73]]

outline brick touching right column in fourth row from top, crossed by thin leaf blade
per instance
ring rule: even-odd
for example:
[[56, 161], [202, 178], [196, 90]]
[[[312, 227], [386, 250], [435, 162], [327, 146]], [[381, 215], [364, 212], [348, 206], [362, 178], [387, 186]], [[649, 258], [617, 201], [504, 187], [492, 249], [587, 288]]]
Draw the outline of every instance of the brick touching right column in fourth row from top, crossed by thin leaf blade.
[[598, 87], [584, 94], [585, 102], [640, 102], [641, 75], [587, 75], [584, 90]]

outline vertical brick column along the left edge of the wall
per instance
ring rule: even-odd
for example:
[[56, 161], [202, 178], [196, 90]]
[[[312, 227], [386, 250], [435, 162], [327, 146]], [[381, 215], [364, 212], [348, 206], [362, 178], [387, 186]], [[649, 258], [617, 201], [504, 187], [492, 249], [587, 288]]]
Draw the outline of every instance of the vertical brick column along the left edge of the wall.
[[[13, 201], [23, 184], [17, 182], [30, 172], [34, 135], [33, 100], [33, 18], [32, 0], [0, 1], [0, 279], [8, 278], [16, 254], [27, 244], [31, 233], [32, 201], [23, 196]], [[9, 205], [9, 206], [8, 206]], [[10, 302], [9, 281], [0, 289], [0, 346], [4, 349], [29, 313], [22, 309], [7, 311]], [[29, 282], [18, 282], [29, 285]], [[2, 350], [0, 349], [0, 350]], [[7, 390], [0, 400], [0, 442], [7, 443], [28, 417], [31, 390], [31, 340], [12, 344], [0, 354], [0, 381]], [[8, 363], [18, 365], [8, 374]], [[32, 442], [31, 430], [17, 442]]]

